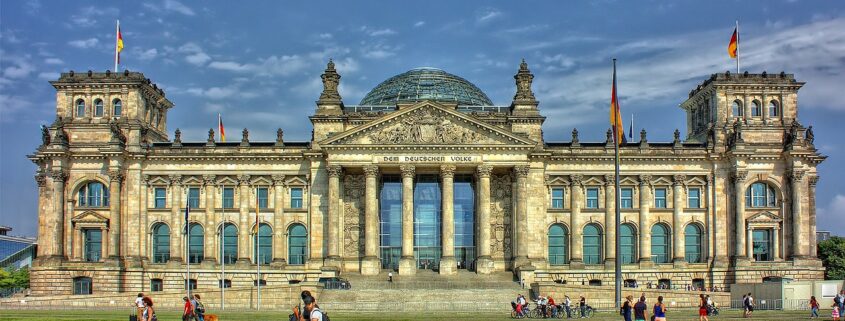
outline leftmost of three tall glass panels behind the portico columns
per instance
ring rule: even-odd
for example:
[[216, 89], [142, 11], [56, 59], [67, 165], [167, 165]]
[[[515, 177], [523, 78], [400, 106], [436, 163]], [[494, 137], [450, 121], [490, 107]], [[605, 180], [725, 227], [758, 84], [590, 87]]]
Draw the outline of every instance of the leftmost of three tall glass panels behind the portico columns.
[[379, 203], [381, 268], [396, 270], [402, 256], [402, 179], [399, 175], [381, 177]]

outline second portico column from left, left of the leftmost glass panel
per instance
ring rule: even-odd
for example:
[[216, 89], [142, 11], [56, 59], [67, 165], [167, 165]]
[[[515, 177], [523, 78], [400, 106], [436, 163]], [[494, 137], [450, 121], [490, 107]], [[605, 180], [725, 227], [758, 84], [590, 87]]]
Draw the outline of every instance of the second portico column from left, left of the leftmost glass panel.
[[377, 275], [381, 272], [378, 259], [378, 166], [364, 166], [364, 260], [361, 274]]

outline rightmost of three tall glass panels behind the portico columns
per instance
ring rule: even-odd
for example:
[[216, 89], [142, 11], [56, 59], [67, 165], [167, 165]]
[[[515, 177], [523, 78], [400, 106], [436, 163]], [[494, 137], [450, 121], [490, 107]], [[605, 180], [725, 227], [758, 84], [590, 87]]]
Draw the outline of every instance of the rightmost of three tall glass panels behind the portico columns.
[[475, 186], [472, 175], [455, 175], [455, 260], [459, 269], [474, 270]]

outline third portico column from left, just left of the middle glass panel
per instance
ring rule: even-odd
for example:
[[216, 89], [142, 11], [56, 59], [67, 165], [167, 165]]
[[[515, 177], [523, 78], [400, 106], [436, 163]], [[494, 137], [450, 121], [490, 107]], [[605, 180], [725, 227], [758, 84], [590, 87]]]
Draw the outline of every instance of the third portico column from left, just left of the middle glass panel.
[[399, 259], [399, 275], [414, 275], [417, 264], [414, 259], [414, 165], [401, 165], [402, 171], [402, 258]]

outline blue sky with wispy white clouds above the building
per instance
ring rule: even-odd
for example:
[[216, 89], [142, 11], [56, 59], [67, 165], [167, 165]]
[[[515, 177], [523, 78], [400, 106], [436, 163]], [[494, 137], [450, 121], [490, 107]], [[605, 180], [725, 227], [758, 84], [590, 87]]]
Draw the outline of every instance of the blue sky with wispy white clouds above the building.
[[[319, 5], [315, 5], [319, 3]], [[726, 52], [739, 20], [742, 70], [794, 73], [799, 118], [813, 125], [819, 230], [845, 235], [845, 2], [842, 1], [2, 1], [0, 2], [0, 225], [37, 233], [35, 165], [41, 124], [55, 119], [60, 72], [143, 72], [175, 104], [168, 131], [205, 141], [222, 113], [252, 140], [310, 138], [308, 116], [329, 58], [340, 94], [356, 105], [381, 81], [429, 66], [509, 105], [524, 58], [546, 141], [604, 141], [611, 59], [618, 91], [649, 141], [684, 131], [678, 108], [712, 73], [735, 70]]]

